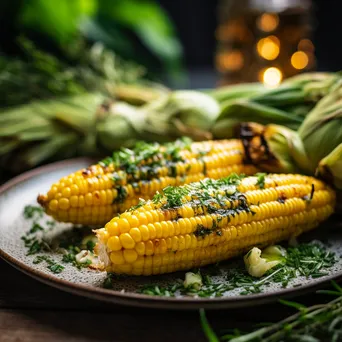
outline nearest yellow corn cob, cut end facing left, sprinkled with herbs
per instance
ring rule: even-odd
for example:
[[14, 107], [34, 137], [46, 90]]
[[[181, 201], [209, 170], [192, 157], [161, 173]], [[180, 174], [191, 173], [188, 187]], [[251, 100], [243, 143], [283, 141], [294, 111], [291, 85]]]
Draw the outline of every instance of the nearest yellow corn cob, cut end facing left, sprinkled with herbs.
[[188, 270], [298, 236], [332, 214], [335, 193], [322, 181], [263, 177], [164, 189], [96, 231], [103, 266], [133, 275]]

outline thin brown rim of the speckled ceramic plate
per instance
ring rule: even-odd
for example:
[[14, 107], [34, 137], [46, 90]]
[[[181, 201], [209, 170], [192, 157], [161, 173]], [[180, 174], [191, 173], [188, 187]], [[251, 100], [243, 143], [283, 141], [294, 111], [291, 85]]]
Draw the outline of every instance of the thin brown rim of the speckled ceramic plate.
[[[0, 196], [14, 186], [23, 183], [31, 178], [37, 177], [42, 173], [61, 169], [66, 165], [77, 163], [90, 163], [94, 159], [87, 157], [73, 158], [50, 163], [24, 172], [0, 186]], [[1, 229], [1, 227], [0, 227]], [[134, 292], [120, 292], [99, 287], [91, 287], [84, 284], [76, 284], [68, 280], [61, 279], [57, 276], [47, 274], [28, 266], [24, 262], [17, 260], [9, 255], [5, 250], [0, 248], [0, 257], [7, 263], [23, 272], [24, 274], [52, 287], [60, 290], [85, 296], [88, 298], [98, 299], [101, 301], [112, 302], [120, 305], [129, 305], [141, 308], [158, 308], [158, 309], [229, 309], [238, 307], [248, 307], [252, 305], [262, 305], [277, 301], [279, 298], [299, 296], [303, 293], [312, 292], [323, 287], [332, 280], [342, 280], [342, 272], [335, 275], [330, 275], [324, 279], [315, 280], [313, 283], [308, 283], [296, 288], [286, 288], [277, 290], [271, 293], [259, 293], [248, 296], [234, 297], [216, 297], [216, 298], [192, 298], [192, 297], [162, 297], [150, 296]], [[96, 271], [94, 271], [96, 272]]]

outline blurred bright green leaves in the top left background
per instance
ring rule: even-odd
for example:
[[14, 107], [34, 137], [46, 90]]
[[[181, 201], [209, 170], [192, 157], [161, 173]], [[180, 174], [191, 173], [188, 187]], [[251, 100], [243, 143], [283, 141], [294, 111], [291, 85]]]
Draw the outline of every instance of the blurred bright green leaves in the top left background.
[[81, 56], [101, 42], [120, 57], [144, 65], [150, 77], [184, 80], [182, 46], [167, 13], [154, 0], [13, 0], [0, 4], [3, 53], [18, 35], [57, 56]]

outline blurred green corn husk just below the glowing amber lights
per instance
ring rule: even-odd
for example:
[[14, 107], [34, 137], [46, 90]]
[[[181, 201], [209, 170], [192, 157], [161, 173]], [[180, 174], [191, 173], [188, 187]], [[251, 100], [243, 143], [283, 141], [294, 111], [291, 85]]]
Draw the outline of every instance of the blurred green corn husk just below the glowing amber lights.
[[287, 79], [276, 89], [224, 101], [212, 133], [215, 138], [232, 138], [241, 122], [273, 123], [297, 130], [339, 79], [340, 75], [334, 73], [307, 73]]

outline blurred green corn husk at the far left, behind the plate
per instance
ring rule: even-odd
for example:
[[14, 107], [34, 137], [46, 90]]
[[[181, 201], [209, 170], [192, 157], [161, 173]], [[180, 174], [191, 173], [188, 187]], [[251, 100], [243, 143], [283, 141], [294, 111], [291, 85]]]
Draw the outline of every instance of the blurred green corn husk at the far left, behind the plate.
[[0, 165], [14, 173], [50, 160], [93, 155], [98, 93], [36, 100], [0, 114]]

